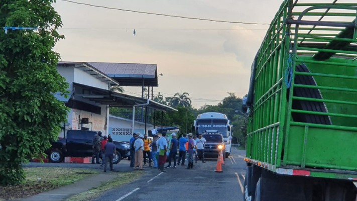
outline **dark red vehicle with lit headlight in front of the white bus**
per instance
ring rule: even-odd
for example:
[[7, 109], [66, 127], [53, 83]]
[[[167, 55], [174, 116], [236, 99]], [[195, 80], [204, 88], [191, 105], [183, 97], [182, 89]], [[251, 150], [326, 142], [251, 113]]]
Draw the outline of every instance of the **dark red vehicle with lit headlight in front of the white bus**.
[[[221, 150], [225, 150], [225, 144], [222, 134], [219, 131], [206, 130], [202, 133], [202, 137], [206, 139], [204, 145], [204, 157], [214, 157], [217, 158]], [[225, 160], [225, 157], [223, 157]]]

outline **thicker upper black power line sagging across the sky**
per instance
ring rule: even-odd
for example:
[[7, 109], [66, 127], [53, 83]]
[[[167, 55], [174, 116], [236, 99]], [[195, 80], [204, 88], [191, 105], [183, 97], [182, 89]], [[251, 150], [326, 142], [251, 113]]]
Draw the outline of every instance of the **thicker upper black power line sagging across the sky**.
[[173, 18], [184, 18], [184, 19], [191, 19], [191, 20], [203, 20], [203, 21], [210, 21], [210, 22], [224, 22], [224, 23], [235, 23], [235, 24], [246, 24], [246, 25], [270, 25], [268, 23], [249, 23], [249, 22], [235, 22], [235, 21], [224, 21], [224, 20], [212, 20], [212, 19], [204, 19], [204, 18], [193, 18], [193, 17], [184, 17], [184, 16], [175, 16], [175, 15], [168, 15], [168, 14], [159, 14], [159, 13], [149, 13], [143, 11], [133, 11], [133, 10], [126, 10], [126, 9], [118, 9], [118, 8], [111, 8], [111, 7], [104, 7], [92, 4], [85, 4], [79, 2], [72, 2], [69, 0], [61, 0], [63, 2], [69, 2], [73, 4], [80, 4], [86, 5], [91, 7], [103, 8], [103, 9], [110, 9], [110, 10], [118, 10], [118, 11], [126, 11], [126, 12], [133, 12], [133, 13], [141, 13], [141, 14], [149, 14], [149, 15], [157, 15], [157, 16], [165, 16], [165, 17], [173, 17]]

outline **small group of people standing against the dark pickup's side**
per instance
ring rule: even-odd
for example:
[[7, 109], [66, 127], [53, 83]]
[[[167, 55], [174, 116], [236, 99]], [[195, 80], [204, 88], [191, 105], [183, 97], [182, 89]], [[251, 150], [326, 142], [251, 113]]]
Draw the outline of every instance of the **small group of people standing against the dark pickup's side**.
[[111, 135], [102, 137], [102, 133], [99, 131], [93, 136], [92, 140], [93, 155], [92, 164], [100, 164], [99, 153], [101, 153], [102, 160], [101, 165], [104, 166], [104, 172], [106, 172], [107, 164], [109, 163], [110, 170], [113, 170], [113, 155], [115, 154], [115, 145]]

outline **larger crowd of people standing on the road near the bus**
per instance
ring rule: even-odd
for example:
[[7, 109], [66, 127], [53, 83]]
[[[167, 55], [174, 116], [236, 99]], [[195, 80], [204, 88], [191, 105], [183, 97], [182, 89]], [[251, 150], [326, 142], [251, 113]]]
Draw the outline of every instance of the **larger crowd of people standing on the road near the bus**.
[[[177, 135], [175, 133], [171, 134], [171, 141], [169, 143], [166, 137], [166, 132], [163, 131], [159, 136], [158, 134], [153, 135], [153, 140], [148, 138], [148, 135], [144, 136], [140, 133], [134, 133], [133, 137], [130, 139], [131, 147], [131, 162], [130, 166], [134, 169], [143, 170], [146, 166], [148, 158], [149, 167], [157, 168], [161, 172], [165, 172], [165, 163], [168, 162], [166, 168], [176, 168], [177, 165], [185, 165], [186, 153], [188, 153], [188, 164], [187, 169], [193, 168], [193, 161], [202, 160], [204, 162], [204, 145], [206, 140], [202, 135], [192, 135], [183, 134], [182, 137], [177, 140]], [[168, 147], [170, 144], [170, 147]], [[177, 150], [179, 148], [179, 150]], [[178, 160], [176, 160], [177, 151], [179, 151]], [[151, 164], [151, 159], [153, 165]], [[173, 166], [171, 163], [173, 161]], [[143, 165], [144, 163], [144, 165]]]

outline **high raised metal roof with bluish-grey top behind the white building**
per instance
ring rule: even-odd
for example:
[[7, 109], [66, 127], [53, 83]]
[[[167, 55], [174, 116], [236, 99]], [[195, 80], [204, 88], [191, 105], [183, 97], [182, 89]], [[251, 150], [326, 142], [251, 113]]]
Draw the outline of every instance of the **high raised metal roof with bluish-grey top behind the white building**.
[[140, 63], [87, 62], [118, 81], [121, 86], [159, 86], [157, 65]]

